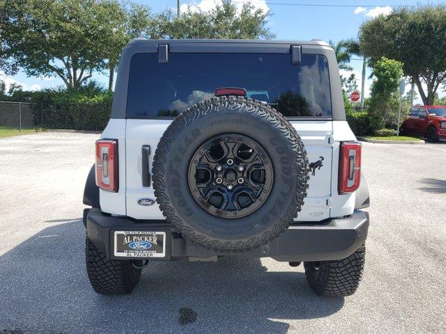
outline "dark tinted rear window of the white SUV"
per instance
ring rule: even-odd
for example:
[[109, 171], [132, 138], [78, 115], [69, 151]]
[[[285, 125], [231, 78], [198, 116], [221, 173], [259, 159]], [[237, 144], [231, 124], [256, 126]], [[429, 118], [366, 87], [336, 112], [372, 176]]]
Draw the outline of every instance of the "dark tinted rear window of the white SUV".
[[169, 63], [158, 63], [157, 54], [135, 54], [127, 116], [174, 117], [214, 97], [216, 88], [240, 87], [286, 117], [331, 117], [327, 59], [302, 54], [301, 60], [293, 65], [290, 54], [171, 53]]

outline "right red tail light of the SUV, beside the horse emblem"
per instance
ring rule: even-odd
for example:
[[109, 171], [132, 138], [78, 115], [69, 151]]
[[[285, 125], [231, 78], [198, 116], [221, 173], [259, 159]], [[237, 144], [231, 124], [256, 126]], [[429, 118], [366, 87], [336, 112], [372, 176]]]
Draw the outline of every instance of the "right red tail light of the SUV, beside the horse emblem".
[[361, 181], [361, 144], [341, 143], [339, 156], [339, 194], [353, 193]]

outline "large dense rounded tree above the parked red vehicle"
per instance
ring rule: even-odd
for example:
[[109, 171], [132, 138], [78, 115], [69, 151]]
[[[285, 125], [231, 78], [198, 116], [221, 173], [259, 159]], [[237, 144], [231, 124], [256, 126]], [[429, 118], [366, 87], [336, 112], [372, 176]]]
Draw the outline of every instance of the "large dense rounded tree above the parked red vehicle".
[[446, 80], [446, 7], [399, 8], [370, 19], [360, 27], [360, 45], [371, 65], [383, 56], [401, 61], [424, 104], [432, 104]]

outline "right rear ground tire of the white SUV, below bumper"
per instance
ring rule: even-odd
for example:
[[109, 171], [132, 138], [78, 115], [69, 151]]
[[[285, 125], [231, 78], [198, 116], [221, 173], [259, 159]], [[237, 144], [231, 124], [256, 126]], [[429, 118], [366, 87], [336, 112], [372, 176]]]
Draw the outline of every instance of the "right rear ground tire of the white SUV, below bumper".
[[364, 257], [365, 245], [362, 245], [344, 260], [304, 262], [305, 276], [320, 296], [350, 296], [360, 284]]

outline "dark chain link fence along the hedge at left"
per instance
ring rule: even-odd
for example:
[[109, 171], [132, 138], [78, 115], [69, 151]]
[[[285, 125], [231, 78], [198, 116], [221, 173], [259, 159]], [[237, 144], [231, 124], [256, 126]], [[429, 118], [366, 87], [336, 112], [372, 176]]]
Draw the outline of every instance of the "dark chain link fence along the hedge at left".
[[0, 127], [14, 129], [105, 129], [112, 111], [111, 102], [27, 103], [0, 101]]

